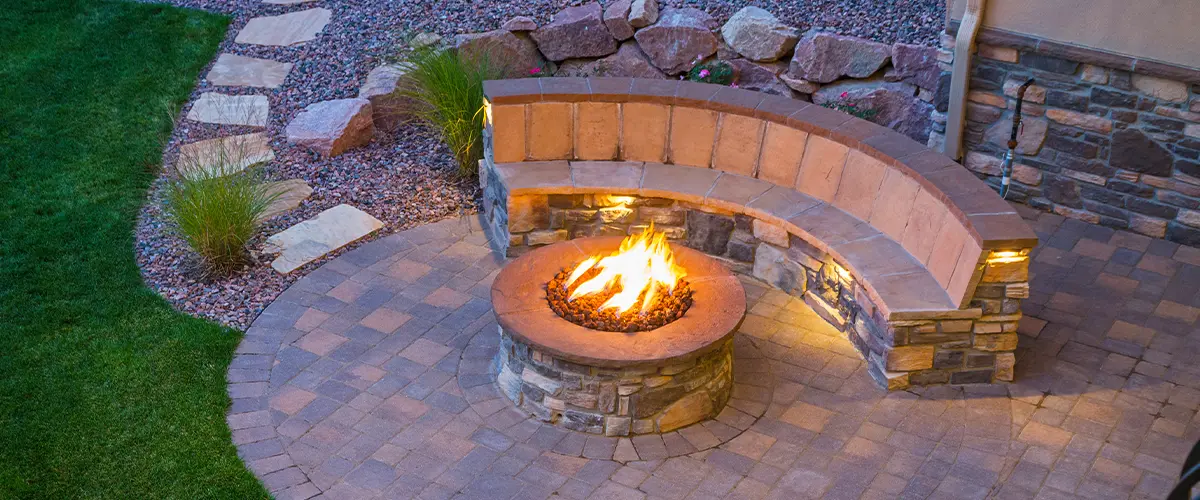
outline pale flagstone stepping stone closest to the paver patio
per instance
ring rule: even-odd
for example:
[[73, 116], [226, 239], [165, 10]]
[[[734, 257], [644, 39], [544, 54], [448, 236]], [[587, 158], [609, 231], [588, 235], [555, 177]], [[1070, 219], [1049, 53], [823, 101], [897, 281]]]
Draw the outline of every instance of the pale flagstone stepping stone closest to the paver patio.
[[342, 204], [266, 239], [265, 251], [280, 255], [271, 269], [287, 275], [382, 227], [370, 213]]

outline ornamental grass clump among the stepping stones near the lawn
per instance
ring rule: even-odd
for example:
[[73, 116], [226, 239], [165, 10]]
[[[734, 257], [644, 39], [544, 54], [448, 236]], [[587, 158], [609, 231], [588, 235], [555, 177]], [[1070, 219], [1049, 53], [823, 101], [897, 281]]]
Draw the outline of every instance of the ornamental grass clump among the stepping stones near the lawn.
[[205, 155], [180, 155], [167, 215], [203, 259], [204, 275], [229, 273], [250, 261], [247, 243], [281, 194], [247, 164], [254, 159], [224, 143]]

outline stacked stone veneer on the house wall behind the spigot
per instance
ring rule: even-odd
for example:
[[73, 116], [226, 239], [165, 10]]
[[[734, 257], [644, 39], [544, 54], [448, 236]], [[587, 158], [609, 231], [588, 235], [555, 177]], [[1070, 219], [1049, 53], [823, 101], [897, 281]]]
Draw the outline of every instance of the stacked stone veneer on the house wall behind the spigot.
[[[998, 186], [1016, 86], [1032, 77], [1009, 198], [1200, 245], [1200, 70], [996, 31], [980, 41], [966, 103], [967, 168]], [[948, 58], [953, 38], [944, 44]]]

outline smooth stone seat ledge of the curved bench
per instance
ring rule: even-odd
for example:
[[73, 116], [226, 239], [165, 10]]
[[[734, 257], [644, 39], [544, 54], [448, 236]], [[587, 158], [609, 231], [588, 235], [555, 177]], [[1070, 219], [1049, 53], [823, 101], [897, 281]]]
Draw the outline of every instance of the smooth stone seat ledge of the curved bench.
[[[596, 174], [595, 170], [605, 165], [613, 169], [612, 175]], [[712, 169], [642, 162], [522, 162], [497, 164], [496, 170], [510, 197], [637, 194], [713, 206], [782, 227], [834, 255], [864, 284], [888, 320], [979, 315], [978, 309], [960, 309], [928, 269], [869, 223], [804, 193], [766, 181]], [[586, 181], [577, 182], [580, 179]], [[719, 192], [719, 187], [724, 189]], [[742, 199], [745, 201], [736, 201]], [[505, 312], [522, 312], [505, 309], [503, 296], [493, 301], [500, 317]]]

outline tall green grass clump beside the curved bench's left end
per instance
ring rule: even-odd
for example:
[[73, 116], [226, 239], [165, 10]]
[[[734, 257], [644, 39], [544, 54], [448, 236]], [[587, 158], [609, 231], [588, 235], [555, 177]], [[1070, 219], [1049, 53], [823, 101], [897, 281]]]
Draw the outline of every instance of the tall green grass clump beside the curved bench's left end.
[[401, 66], [407, 84], [398, 92], [416, 103], [410, 118], [442, 135], [460, 176], [474, 176], [484, 157], [484, 80], [503, 78], [504, 67], [493, 58], [436, 48], [413, 52]]

